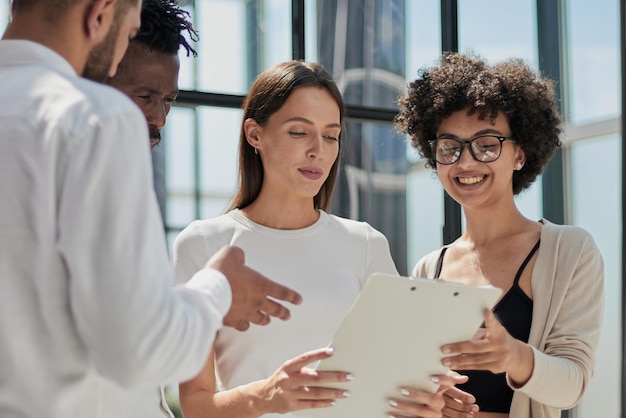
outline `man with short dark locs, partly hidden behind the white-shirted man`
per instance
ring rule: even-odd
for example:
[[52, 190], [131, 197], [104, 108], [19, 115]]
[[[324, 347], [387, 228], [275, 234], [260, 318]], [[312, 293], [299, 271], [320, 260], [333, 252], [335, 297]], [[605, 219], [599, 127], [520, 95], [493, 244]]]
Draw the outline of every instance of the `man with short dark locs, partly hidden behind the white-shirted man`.
[[182, 47], [187, 56], [197, 56], [190, 41], [197, 41], [198, 34], [189, 17], [175, 0], [144, 0], [141, 28], [109, 80], [146, 116], [152, 148], [161, 141], [161, 129], [178, 95], [178, 51]]

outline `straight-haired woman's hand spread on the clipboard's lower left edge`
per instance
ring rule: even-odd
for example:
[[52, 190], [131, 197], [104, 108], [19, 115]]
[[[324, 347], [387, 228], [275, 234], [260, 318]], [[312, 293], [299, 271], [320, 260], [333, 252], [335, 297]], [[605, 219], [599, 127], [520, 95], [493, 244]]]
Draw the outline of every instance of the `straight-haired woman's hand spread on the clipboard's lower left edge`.
[[[333, 389], [325, 385], [348, 382], [352, 375], [346, 372], [321, 372], [306, 365], [332, 356], [332, 348], [309, 351], [286, 361], [269, 378], [254, 385], [259, 415], [284, 414], [299, 409], [326, 408], [335, 400], [346, 398], [345, 389]], [[252, 389], [252, 388], [250, 388]]]

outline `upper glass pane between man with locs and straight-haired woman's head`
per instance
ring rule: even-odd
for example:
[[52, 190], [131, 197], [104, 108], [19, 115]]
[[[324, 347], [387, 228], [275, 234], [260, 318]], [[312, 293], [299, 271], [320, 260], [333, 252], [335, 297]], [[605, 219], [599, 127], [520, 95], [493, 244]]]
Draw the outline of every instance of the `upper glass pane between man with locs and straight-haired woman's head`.
[[290, 0], [196, 0], [192, 10], [200, 41], [183, 89], [245, 94], [257, 74], [291, 59]]

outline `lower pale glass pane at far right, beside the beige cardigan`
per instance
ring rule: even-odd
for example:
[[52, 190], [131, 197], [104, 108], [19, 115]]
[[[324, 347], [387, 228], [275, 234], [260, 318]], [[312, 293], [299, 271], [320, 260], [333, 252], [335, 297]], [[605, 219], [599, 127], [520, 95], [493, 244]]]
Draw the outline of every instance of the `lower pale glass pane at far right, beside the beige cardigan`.
[[[572, 221], [589, 231], [604, 258], [605, 310], [597, 364], [577, 416], [620, 415], [621, 364], [621, 138], [617, 135], [575, 143], [569, 170]], [[601, 157], [602, 169], [598, 169]], [[610, 181], [607, 181], [610, 179]]]

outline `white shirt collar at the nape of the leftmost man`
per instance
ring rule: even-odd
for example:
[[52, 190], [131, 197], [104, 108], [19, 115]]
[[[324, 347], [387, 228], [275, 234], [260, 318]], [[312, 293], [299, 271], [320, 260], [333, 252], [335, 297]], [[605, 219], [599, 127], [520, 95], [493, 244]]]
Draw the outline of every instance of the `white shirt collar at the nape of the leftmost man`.
[[77, 76], [65, 58], [46, 46], [21, 39], [0, 41], [0, 67], [28, 64], [40, 64], [62, 74]]

